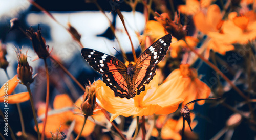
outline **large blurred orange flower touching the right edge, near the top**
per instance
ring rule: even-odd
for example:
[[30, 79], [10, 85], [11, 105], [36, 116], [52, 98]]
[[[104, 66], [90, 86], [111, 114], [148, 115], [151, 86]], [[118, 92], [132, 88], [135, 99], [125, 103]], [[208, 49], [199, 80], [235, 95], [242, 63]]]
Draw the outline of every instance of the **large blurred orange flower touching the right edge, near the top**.
[[225, 55], [227, 51], [234, 50], [232, 44], [247, 44], [256, 38], [256, 14], [248, 11], [245, 16], [237, 16], [236, 12], [228, 15], [228, 20], [223, 22], [222, 32], [208, 32], [212, 38], [209, 42], [210, 49]]

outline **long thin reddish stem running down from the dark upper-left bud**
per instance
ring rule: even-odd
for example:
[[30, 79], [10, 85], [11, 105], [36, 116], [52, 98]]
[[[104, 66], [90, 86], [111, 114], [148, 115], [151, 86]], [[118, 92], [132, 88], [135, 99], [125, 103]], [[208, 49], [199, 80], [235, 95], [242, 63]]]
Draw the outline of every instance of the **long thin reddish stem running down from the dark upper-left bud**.
[[46, 128], [46, 121], [47, 121], [48, 108], [49, 108], [49, 92], [50, 92], [49, 72], [48, 72], [46, 59], [44, 59], [44, 62], [45, 62], [45, 68], [46, 68], [46, 111], [45, 111], [45, 119], [42, 125], [42, 138], [41, 138], [42, 140], [45, 139], [45, 128]]

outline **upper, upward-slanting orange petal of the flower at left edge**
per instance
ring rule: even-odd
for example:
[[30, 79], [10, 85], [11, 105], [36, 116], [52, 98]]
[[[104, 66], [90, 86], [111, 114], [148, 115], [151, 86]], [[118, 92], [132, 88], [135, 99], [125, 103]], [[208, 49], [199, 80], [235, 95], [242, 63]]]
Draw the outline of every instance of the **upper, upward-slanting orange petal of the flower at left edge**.
[[18, 85], [18, 75], [15, 75], [12, 79], [8, 80], [1, 88], [0, 88], [0, 97], [4, 96], [7, 92], [10, 95], [15, 87]]

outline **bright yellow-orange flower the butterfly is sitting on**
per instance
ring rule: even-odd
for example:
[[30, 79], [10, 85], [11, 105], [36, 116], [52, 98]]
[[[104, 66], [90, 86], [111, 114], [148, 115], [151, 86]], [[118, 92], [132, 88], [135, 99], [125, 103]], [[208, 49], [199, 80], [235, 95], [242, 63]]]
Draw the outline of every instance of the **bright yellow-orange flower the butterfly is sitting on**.
[[115, 97], [114, 91], [102, 81], [96, 81], [98, 104], [112, 113], [110, 121], [117, 116], [147, 116], [152, 114], [169, 114], [177, 110], [184, 100], [183, 86], [180, 81], [172, 79], [158, 86], [158, 75], [146, 85], [145, 91], [132, 99]]

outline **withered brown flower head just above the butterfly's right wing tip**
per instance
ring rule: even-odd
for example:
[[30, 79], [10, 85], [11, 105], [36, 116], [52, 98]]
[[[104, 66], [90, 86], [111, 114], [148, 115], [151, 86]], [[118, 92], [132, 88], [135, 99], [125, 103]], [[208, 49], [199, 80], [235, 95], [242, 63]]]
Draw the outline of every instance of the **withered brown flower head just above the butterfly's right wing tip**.
[[185, 38], [187, 35], [186, 26], [180, 24], [180, 17], [176, 15], [176, 22], [174, 22], [167, 13], [162, 13], [159, 16], [160, 17], [155, 16], [155, 19], [163, 25], [169, 34], [172, 34], [178, 40]]

